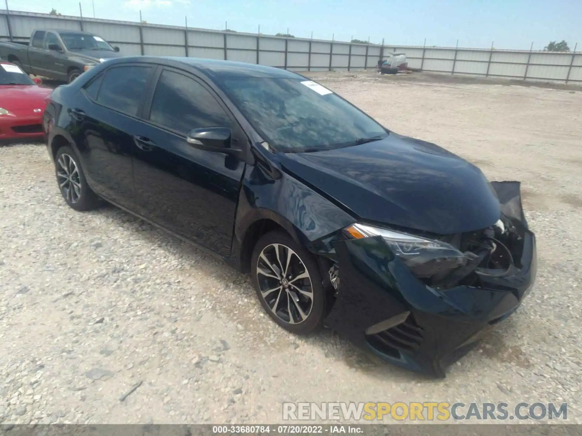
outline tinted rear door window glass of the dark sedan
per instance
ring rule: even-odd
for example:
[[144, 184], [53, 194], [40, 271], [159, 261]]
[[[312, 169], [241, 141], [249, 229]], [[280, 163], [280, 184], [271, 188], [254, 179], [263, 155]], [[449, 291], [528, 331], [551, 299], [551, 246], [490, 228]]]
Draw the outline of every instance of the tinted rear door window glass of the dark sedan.
[[150, 73], [151, 67], [134, 65], [107, 70], [102, 79], [97, 102], [136, 116]]

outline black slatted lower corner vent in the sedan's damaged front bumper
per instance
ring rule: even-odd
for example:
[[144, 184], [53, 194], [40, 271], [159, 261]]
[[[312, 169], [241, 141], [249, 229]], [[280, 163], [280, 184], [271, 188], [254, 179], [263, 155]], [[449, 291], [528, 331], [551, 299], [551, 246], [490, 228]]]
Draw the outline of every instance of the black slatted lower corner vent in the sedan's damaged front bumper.
[[418, 326], [412, 314], [403, 323], [387, 328], [377, 334], [368, 335], [367, 340], [378, 351], [395, 358], [400, 352], [415, 353], [423, 343], [424, 331]]

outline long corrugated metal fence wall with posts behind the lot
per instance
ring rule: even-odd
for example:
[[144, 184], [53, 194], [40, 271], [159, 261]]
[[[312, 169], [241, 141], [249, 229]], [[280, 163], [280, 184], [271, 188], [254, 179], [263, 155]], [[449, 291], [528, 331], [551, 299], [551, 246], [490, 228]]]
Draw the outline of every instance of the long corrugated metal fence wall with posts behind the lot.
[[424, 71], [582, 83], [582, 53], [381, 47], [39, 13], [8, 15], [6, 10], [0, 10], [0, 40], [27, 41], [34, 28], [95, 33], [119, 46], [126, 56], [190, 56], [260, 63], [293, 71], [349, 71], [373, 68], [388, 53], [406, 53], [409, 67]]

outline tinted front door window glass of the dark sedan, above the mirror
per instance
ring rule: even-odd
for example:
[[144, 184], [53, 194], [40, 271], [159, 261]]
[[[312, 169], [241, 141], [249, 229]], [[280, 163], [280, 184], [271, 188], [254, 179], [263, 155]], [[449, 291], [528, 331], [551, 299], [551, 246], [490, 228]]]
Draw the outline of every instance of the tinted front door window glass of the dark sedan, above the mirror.
[[150, 120], [184, 135], [199, 127], [230, 127], [228, 114], [191, 77], [164, 70], [155, 88]]

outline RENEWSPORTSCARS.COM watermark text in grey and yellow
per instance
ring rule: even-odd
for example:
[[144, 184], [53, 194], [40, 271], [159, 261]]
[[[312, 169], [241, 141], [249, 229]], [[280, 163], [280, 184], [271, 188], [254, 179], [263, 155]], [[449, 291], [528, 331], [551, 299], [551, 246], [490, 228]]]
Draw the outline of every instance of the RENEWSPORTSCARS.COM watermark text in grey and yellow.
[[447, 421], [447, 420], [567, 420], [567, 403], [283, 403], [283, 420]]

